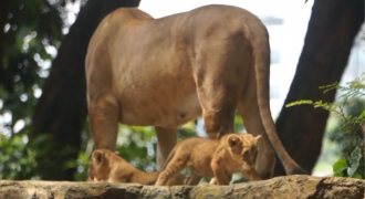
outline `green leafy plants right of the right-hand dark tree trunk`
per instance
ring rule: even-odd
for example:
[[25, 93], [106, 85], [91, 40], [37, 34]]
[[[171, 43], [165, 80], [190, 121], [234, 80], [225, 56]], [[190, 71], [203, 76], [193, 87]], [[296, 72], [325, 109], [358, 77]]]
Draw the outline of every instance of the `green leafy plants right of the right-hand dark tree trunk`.
[[[311, 100], [296, 101], [286, 107], [302, 104], [323, 108], [338, 119], [338, 127], [330, 132], [330, 138], [342, 146], [341, 158], [333, 165], [334, 176], [364, 178], [365, 156], [365, 73], [354, 81], [340, 86], [337, 83], [321, 86], [324, 93], [337, 90], [340, 96], [335, 103]], [[363, 126], [363, 128], [362, 128]]]

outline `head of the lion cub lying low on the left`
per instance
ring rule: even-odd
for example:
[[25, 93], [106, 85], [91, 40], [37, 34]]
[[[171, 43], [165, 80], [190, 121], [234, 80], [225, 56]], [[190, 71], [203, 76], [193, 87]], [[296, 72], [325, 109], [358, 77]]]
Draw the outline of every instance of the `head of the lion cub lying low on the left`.
[[96, 149], [88, 163], [87, 176], [91, 181], [107, 181], [111, 175], [111, 165], [117, 157], [115, 153], [107, 149]]

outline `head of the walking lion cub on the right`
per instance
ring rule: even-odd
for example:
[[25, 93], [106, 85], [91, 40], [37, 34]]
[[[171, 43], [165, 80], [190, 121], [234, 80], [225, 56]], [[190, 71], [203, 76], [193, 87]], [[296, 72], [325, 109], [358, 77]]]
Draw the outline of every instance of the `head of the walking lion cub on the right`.
[[254, 167], [260, 139], [260, 135], [254, 137], [251, 134], [231, 134], [227, 137], [229, 151], [233, 160], [242, 164], [242, 169]]

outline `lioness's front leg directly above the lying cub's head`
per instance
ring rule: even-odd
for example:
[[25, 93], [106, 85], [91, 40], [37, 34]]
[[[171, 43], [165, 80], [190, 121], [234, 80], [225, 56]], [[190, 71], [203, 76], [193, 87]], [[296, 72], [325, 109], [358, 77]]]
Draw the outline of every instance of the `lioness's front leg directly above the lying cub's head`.
[[100, 96], [97, 100], [88, 100], [88, 118], [95, 149], [115, 150], [118, 111], [118, 103], [111, 95]]

